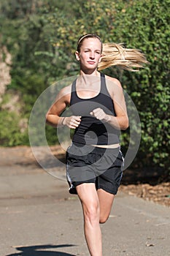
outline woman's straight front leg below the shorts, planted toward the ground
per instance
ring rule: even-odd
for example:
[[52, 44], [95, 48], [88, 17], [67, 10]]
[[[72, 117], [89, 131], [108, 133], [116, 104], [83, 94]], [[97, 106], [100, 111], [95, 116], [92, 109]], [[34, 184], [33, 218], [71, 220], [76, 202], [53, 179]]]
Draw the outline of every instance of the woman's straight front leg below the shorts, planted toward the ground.
[[102, 256], [101, 229], [99, 225], [100, 207], [95, 184], [77, 186], [77, 194], [84, 214], [85, 239], [91, 256]]

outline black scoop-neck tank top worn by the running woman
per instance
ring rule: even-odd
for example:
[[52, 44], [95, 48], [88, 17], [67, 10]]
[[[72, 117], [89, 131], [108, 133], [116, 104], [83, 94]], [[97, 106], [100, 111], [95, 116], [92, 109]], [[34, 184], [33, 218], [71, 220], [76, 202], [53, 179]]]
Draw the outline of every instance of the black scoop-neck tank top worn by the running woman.
[[70, 110], [74, 116], [82, 116], [81, 123], [75, 129], [72, 142], [88, 145], [110, 145], [119, 143], [120, 131], [111, 125], [90, 115], [95, 108], [102, 108], [105, 113], [116, 116], [112, 98], [101, 73], [101, 89], [96, 97], [82, 99], [77, 96], [76, 80], [72, 83]]

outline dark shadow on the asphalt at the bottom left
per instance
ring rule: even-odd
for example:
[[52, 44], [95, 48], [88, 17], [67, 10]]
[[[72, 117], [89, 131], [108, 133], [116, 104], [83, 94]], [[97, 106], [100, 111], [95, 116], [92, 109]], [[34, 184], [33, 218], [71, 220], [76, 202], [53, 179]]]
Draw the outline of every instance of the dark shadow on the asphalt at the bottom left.
[[[75, 256], [71, 255], [67, 252], [58, 252], [52, 251], [51, 249], [58, 249], [63, 247], [71, 247], [75, 246], [74, 244], [42, 244], [42, 245], [34, 245], [34, 246], [18, 246], [15, 249], [18, 250], [16, 253], [12, 253], [6, 256]], [[50, 249], [50, 250], [47, 250]]]

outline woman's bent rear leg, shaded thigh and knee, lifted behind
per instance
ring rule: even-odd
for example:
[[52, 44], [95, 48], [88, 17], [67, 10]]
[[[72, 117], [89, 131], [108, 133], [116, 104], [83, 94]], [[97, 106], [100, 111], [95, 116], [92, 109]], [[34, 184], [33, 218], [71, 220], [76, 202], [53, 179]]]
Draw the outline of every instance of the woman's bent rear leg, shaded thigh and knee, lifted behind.
[[112, 203], [114, 200], [114, 195], [109, 192], [104, 191], [104, 189], [98, 189], [98, 201], [100, 206], [100, 223], [104, 223], [109, 218], [109, 214], [112, 208]]

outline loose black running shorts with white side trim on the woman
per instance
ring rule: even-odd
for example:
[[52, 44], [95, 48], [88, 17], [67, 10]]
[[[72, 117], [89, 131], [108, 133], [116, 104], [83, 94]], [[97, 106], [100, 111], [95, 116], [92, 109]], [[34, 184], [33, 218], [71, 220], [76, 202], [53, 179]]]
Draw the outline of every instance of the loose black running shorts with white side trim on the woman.
[[123, 155], [120, 148], [99, 148], [72, 144], [66, 151], [66, 176], [69, 192], [77, 194], [76, 187], [94, 183], [96, 189], [117, 194], [123, 175]]

